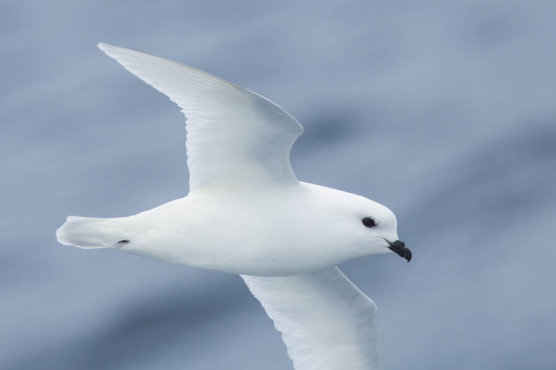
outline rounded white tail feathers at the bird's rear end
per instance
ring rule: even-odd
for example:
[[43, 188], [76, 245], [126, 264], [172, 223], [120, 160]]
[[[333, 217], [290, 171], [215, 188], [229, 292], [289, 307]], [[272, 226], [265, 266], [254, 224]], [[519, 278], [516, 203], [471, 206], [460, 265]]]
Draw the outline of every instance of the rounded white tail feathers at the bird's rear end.
[[119, 220], [70, 216], [56, 230], [56, 238], [61, 244], [79, 248], [110, 248], [129, 239], [122, 233]]

